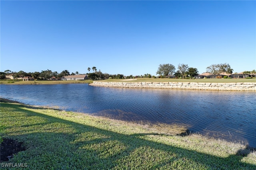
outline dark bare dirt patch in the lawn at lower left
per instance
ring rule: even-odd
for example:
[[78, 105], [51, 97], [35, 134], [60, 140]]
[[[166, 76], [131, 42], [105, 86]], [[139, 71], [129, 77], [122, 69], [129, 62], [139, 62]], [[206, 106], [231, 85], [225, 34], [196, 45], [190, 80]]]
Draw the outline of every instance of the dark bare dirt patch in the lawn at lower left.
[[0, 162], [8, 161], [13, 157], [13, 154], [26, 150], [22, 145], [22, 142], [13, 139], [3, 139], [0, 149]]

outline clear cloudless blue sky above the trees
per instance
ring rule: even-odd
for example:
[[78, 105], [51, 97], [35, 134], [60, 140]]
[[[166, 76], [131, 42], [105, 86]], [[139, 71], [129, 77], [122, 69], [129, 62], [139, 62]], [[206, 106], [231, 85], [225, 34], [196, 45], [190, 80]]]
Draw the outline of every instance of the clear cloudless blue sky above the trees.
[[256, 69], [256, 1], [1, 0], [0, 8], [2, 72]]

